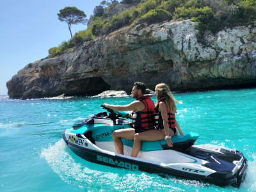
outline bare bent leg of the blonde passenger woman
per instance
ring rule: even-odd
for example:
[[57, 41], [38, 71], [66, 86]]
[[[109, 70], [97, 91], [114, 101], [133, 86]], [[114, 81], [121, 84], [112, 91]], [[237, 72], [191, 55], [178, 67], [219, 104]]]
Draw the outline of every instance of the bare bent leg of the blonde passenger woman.
[[[169, 130], [170, 135], [174, 136], [174, 132], [172, 129]], [[138, 153], [140, 152], [141, 148], [141, 141], [157, 141], [157, 140], [164, 140], [165, 133], [164, 129], [158, 130], [148, 130], [143, 132], [138, 132], [134, 135], [134, 143], [132, 147], [132, 157], [137, 157]]]

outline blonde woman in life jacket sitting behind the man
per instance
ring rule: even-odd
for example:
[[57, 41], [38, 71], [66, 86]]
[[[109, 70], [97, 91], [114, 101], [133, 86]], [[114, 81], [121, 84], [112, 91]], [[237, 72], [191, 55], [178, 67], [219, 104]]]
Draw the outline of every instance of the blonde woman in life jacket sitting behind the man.
[[175, 120], [175, 113], [177, 108], [175, 102], [179, 102], [174, 99], [169, 87], [160, 83], [156, 85], [156, 128], [155, 130], [149, 130], [145, 132], [138, 132], [134, 135], [134, 143], [132, 148], [132, 157], [137, 157], [141, 148], [141, 141], [157, 141], [166, 140], [168, 147], [173, 147], [172, 136], [177, 135], [177, 130], [181, 136], [184, 136], [180, 129], [178, 122]]

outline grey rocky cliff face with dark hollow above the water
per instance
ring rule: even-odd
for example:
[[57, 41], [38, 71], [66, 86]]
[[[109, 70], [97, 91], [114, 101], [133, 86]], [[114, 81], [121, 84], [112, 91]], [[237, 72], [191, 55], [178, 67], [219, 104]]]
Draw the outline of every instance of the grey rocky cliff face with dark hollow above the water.
[[[7, 82], [11, 98], [131, 92], [134, 81], [154, 90], [204, 90], [256, 84], [256, 22], [205, 33], [195, 22], [140, 24], [102, 36], [55, 58], [35, 61]], [[204, 42], [203, 44], [200, 42]]]

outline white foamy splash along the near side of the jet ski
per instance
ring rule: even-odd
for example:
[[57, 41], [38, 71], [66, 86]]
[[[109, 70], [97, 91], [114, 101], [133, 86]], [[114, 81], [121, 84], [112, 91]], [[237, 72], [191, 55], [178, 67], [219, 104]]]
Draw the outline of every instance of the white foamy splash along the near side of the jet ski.
[[[68, 152], [65, 141], [44, 148], [40, 154], [64, 182], [79, 188], [111, 191], [186, 191], [205, 186], [198, 181], [175, 177], [163, 178], [156, 174], [131, 172], [84, 161]], [[121, 171], [120, 171], [121, 170]], [[184, 188], [180, 188], [180, 184]]]

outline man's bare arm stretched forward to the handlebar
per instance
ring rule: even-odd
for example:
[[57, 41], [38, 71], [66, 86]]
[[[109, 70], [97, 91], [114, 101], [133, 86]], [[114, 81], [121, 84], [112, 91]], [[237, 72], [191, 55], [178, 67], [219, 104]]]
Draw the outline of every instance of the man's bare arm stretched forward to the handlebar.
[[109, 104], [103, 104], [106, 108], [110, 108], [116, 111], [142, 111], [145, 106], [143, 102], [140, 102], [140, 100], [134, 100], [134, 102], [131, 102], [130, 104], [126, 106], [119, 106], [119, 105], [109, 105]]

